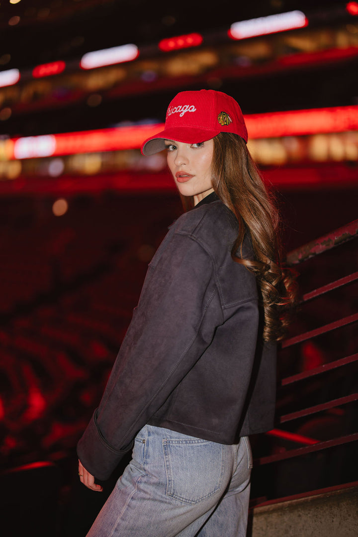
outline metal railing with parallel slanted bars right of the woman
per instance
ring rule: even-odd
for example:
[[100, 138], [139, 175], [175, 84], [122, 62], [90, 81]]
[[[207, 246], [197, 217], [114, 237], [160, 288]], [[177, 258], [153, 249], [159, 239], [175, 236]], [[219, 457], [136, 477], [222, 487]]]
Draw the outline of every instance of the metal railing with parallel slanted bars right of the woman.
[[[300, 274], [304, 273], [305, 266], [304, 263], [308, 261], [309, 259], [314, 259], [318, 255], [321, 255], [325, 252], [328, 252], [332, 250], [333, 248], [341, 247], [343, 244], [357, 240], [358, 238], [358, 220], [355, 220], [351, 223], [349, 223], [347, 226], [341, 227], [332, 233], [329, 233], [323, 237], [318, 238], [315, 241], [312, 241], [308, 244], [305, 244], [301, 248], [297, 248], [296, 250], [289, 253], [287, 256], [287, 262], [288, 265], [291, 267], [299, 267]], [[338, 256], [339, 252], [332, 252], [332, 255]], [[353, 256], [354, 258], [354, 256]], [[358, 261], [358, 244], [356, 248], [355, 253], [355, 260]], [[310, 263], [314, 263], [313, 260]], [[354, 268], [354, 267], [353, 267]], [[351, 267], [345, 266], [345, 270], [352, 270]], [[326, 276], [326, 275], [325, 275]], [[354, 284], [358, 280], [358, 272], [352, 272], [348, 275], [345, 275], [344, 277], [335, 279], [334, 281], [328, 282], [328, 284], [325, 284], [323, 286], [317, 287], [316, 289], [313, 289], [312, 291], [309, 291], [307, 293], [302, 294], [301, 300], [300, 300], [300, 306], [304, 307], [304, 304], [319, 299], [319, 297], [322, 297], [326, 293], [330, 293], [332, 291], [335, 291], [337, 289], [341, 289], [344, 286], [348, 286], [351, 284]], [[352, 306], [355, 307], [355, 302], [358, 302], [358, 296], [354, 298], [354, 294], [352, 293]], [[334, 314], [339, 315], [339, 311], [337, 309], [334, 310]], [[304, 342], [308, 342], [309, 340], [312, 340], [313, 338], [317, 337], [329, 337], [329, 335], [336, 330], [343, 329], [344, 327], [348, 327], [354, 323], [357, 323], [358, 321], [358, 312], [352, 313], [348, 316], [343, 316], [341, 318], [335, 319], [334, 321], [330, 323], [323, 324], [321, 326], [318, 326], [318, 328], [313, 328], [309, 330], [303, 330], [301, 333], [298, 333], [297, 335], [294, 335], [292, 337], [287, 338], [284, 340], [281, 344], [281, 353], [284, 351], [288, 357], [288, 360], [292, 358], [292, 356], [295, 356], [297, 354], [296, 349], [297, 346]], [[358, 331], [357, 331], [358, 332]], [[357, 333], [355, 332], [355, 333]], [[335, 335], [340, 337], [339, 335]], [[358, 336], [358, 333], [357, 333]], [[358, 337], [353, 338], [354, 343], [356, 344]], [[355, 349], [358, 350], [358, 349]], [[295, 354], [296, 353], [296, 354]], [[315, 386], [313, 386], [313, 389], [311, 391], [315, 391], [315, 387], [323, 386], [324, 389], [326, 388], [326, 384], [322, 380], [322, 375], [328, 374], [331, 375], [330, 382], [331, 384], [334, 384], [335, 378], [334, 375], [338, 375], [339, 373], [344, 372], [344, 368], [348, 368], [348, 374], [352, 375], [356, 372], [355, 362], [358, 362], [358, 352], [349, 353], [346, 356], [343, 357], [334, 357], [334, 359], [330, 360], [328, 357], [328, 361], [326, 361], [323, 364], [319, 364], [317, 367], [313, 367], [312, 369], [308, 369], [306, 371], [299, 371], [295, 374], [290, 374], [288, 376], [285, 376], [279, 381], [278, 386], [278, 398], [277, 398], [277, 417], [276, 417], [276, 427], [277, 429], [274, 429], [273, 431], [269, 431], [266, 433], [265, 437], [276, 437], [276, 442], [278, 442], [280, 438], [286, 439], [286, 446], [283, 448], [277, 448], [277, 445], [275, 446], [275, 449], [272, 449], [271, 446], [271, 453], [266, 454], [260, 454], [255, 459], [254, 464], [254, 471], [262, 471], [263, 475], [265, 472], [265, 468], [271, 467], [274, 463], [280, 463], [281, 461], [285, 461], [288, 459], [294, 459], [294, 458], [301, 458], [303, 455], [308, 455], [310, 453], [317, 453], [317, 452], [323, 452], [324, 450], [327, 450], [329, 448], [334, 448], [337, 446], [348, 446], [351, 445], [351, 442], [356, 442], [358, 440], [358, 432], [357, 429], [355, 431], [352, 431], [352, 419], [350, 420], [350, 426], [346, 427], [344, 424], [339, 428], [339, 434], [338, 436], [334, 435], [334, 432], [332, 433], [331, 438], [320, 438], [319, 434], [317, 434], [317, 438], [310, 438], [315, 437], [315, 430], [314, 430], [314, 423], [319, 424], [320, 417], [325, 415], [325, 413], [333, 413], [335, 416], [341, 415], [342, 420], [344, 420], [345, 417], [345, 408], [346, 405], [352, 405], [355, 401], [358, 400], [358, 387], [357, 383], [350, 382], [349, 389], [347, 393], [340, 393], [338, 397], [328, 397], [327, 400], [324, 400], [323, 402], [319, 402], [319, 404], [308, 404], [305, 406], [303, 403], [305, 401], [305, 397], [302, 395], [304, 393], [301, 391], [302, 384], [309, 383], [309, 382], [316, 382]], [[279, 355], [280, 359], [280, 355]], [[349, 368], [353, 368], [352, 371], [349, 371]], [[331, 373], [329, 373], [331, 372]], [[344, 378], [344, 375], [340, 375], [340, 378]], [[358, 375], [357, 375], [358, 376]], [[351, 378], [350, 378], [351, 379]], [[301, 384], [300, 384], [301, 383]], [[352, 390], [353, 386], [353, 390]], [[280, 390], [290, 390], [290, 404], [288, 405], [289, 409], [285, 410], [284, 404], [280, 405]], [[326, 390], [328, 394], [330, 393], [330, 390]], [[334, 387], [333, 387], [334, 391]], [[353, 393], [352, 393], [353, 392]], [[312, 402], [312, 401], [311, 401]], [[281, 408], [280, 408], [281, 407]], [[352, 408], [350, 409], [350, 415], [354, 415], [354, 409], [352, 411]], [[311, 427], [311, 434], [307, 437], [303, 436], [302, 434], [295, 433], [295, 422], [294, 420], [302, 420], [304, 418], [312, 417], [312, 423], [313, 426]], [[285, 431], [286, 429], [286, 431]], [[329, 431], [329, 427], [328, 427]], [[297, 447], [299, 446], [299, 447]], [[270, 450], [269, 450], [270, 451]], [[349, 451], [349, 450], [348, 450]], [[333, 458], [334, 460], [334, 458]], [[352, 468], [354, 468], [354, 461], [352, 460]], [[300, 459], [299, 465], [301, 465], [301, 470], [305, 471], [304, 469], [304, 458]], [[255, 470], [256, 469], [256, 470]], [[312, 467], [310, 467], [309, 471], [312, 470]], [[339, 472], [338, 472], [339, 473]], [[271, 476], [274, 475], [274, 472], [271, 471]], [[350, 481], [355, 481], [357, 477], [352, 473], [352, 478]], [[338, 478], [339, 480], [339, 478]], [[347, 476], [344, 477], [345, 481], [342, 481], [342, 483], [347, 482]], [[337, 485], [339, 483], [334, 483], [334, 485]], [[289, 490], [289, 489], [287, 489]], [[288, 496], [288, 494], [284, 494], [283, 496]]]

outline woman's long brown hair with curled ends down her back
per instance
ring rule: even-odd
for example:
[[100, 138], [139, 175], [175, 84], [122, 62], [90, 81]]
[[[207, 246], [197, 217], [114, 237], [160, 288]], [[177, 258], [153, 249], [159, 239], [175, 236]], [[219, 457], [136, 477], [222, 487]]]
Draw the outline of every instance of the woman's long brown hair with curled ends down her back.
[[[264, 308], [264, 340], [283, 339], [296, 300], [294, 274], [281, 261], [280, 217], [272, 195], [242, 138], [220, 133], [214, 138], [213, 188], [235, 214], [239, 232], [231, 256], [254, 272]], [[253, 259], [242, 257], [245, 233], [250, 234]]]

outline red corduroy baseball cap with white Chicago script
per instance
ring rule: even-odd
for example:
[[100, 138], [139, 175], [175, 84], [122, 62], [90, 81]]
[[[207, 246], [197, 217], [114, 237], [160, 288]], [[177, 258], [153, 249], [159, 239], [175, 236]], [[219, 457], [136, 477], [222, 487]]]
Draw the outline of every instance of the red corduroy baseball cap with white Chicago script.
[[165, 128], [142, 145], [143, 155], [165, 149], [164, 140], [199, 143], [219, 133], [234, 133], [247, 142], [247, 130], [236, 100], [214, 90], [181, 91], [168, 106]]

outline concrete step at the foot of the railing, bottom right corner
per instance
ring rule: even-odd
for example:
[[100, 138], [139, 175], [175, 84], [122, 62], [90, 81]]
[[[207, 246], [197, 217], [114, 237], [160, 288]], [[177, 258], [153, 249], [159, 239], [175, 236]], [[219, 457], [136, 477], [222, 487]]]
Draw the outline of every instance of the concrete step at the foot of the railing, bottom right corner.
[[358, 483], [259, 504], [247, 537], [357, 537]]

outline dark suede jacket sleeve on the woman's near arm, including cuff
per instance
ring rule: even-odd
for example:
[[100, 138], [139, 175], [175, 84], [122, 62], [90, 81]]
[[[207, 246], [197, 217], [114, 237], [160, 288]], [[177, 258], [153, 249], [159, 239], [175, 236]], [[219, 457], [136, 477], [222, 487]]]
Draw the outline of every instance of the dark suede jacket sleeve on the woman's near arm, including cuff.
[[111, 475], [209, 346], [223, 321], [222, 311], [210, 310], [213, 318], [203, 323], [215, 294], [214, 272], [208, 253], [188, 235], [169, 232], [159, 246], [99, 408], [78, 443], [79, 459], [97, 478]]

